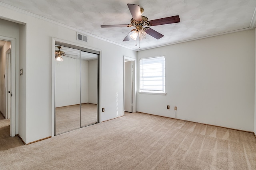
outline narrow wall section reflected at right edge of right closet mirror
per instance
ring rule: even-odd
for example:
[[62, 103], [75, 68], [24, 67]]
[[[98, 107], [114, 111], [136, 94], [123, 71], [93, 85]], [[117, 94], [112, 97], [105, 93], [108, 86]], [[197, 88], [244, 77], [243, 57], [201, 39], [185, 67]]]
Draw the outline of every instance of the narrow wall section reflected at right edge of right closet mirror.
[[88, 62], [88, 103], [97, 104], [98, 60]]

